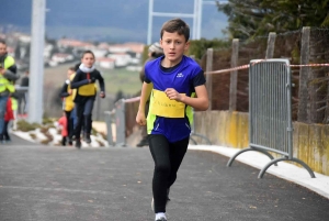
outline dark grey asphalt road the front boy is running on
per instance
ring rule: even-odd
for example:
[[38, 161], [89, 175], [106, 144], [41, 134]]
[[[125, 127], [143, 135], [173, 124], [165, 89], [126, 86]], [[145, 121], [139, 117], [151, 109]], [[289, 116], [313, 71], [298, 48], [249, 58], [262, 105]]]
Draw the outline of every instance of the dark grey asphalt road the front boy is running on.
[[[24, 143], [24, 142], [23, 142]], [[0, 145], [0, 221], [152, 221], [147, 147]], [[219, 154], [189, 151], [173, 221], [326, 221], [329, 199]]]

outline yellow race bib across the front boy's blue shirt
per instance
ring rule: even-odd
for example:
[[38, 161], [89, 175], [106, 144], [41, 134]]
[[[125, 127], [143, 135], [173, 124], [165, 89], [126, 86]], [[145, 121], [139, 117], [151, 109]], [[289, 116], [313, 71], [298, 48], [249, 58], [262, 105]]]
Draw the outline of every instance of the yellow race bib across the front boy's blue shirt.
[[[185, 93], [181, 93], [185, 95]], [[152, 90], [150, 99], [150, 113], [164, 118], [184, 118], [185, 103], [170, 100], [164, 91]]]

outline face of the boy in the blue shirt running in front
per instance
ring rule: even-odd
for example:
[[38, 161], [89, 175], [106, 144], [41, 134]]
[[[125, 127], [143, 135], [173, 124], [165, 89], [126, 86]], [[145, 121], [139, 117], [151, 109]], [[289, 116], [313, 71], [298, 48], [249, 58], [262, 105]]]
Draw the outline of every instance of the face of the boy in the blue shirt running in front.
[[166, 59], [177, 65], [181, 62], [181, 58], [189, 48], [190, 42], [186, 42], [184, 35], [179, 35], [177, 32], [163, 32], [162, 38], [160, 40], [160, 44], [163, 48], [163, 53]]

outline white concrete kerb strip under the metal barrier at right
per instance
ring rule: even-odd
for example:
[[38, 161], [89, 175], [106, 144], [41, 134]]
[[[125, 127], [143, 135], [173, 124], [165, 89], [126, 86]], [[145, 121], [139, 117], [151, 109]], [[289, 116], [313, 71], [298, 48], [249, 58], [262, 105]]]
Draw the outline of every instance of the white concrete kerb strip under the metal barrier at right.
[[[189, 150], [208, 151], [227, 157], [231, 157], [234, 154], [240, 151], [238, 148], [214, 145], [190, 145]], [[270, 159], [268, 158], [268, 156], [258, 152], [246, 152], [239, 155], [236, 161], [250, 165], [254, 168], [262, 169]], [[232, 164], [231, 166], [235, 166], [235, 164]], [[329, 199], [329, 176], [315, 173], [316, 178], [310, 178], [305, 168], [285, 162], [280, 162], [277, 166], [271, 166], [266, 170], [266, 173], [282, 179], [298, 184]], [[257, 175], [254, 176], [254, 178], [257, 179]], [[263, 179], [265, 178], [266, 177], [264, 176]]]

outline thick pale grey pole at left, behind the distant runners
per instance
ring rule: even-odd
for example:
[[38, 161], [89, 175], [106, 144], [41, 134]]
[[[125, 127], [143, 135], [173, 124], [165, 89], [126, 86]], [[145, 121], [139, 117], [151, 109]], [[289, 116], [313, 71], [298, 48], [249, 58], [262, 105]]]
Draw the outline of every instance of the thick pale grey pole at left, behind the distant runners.
[[33, 0], [30, 54], [29, 122], [42, 123], [44, 114], [44, 45], [46, 0]]

